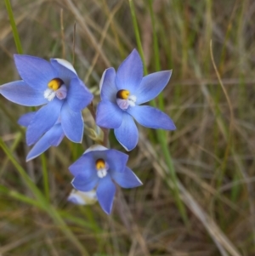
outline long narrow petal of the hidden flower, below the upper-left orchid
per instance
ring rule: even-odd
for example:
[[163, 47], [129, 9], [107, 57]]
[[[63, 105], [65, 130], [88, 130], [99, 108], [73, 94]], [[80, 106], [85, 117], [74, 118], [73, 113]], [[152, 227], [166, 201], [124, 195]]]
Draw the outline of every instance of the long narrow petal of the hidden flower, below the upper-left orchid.
[[62, 139], [63, 131], [61, 125], [56, 124], [37, 141], [36, 145], [33, 146], [31, 151], [26, 156], [26, 162], [41, 155], [44, 151], [47, 151], [51, 145], [59, 145]]

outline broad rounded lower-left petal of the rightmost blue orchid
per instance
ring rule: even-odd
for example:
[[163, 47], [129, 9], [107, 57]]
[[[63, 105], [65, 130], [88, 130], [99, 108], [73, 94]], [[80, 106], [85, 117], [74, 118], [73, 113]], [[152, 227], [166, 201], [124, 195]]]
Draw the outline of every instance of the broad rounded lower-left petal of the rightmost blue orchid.
[[96, 123], [104, 128], [119, 128], [122, 124], [123, 111], [111, 101], [101, 101], [97, 107]]

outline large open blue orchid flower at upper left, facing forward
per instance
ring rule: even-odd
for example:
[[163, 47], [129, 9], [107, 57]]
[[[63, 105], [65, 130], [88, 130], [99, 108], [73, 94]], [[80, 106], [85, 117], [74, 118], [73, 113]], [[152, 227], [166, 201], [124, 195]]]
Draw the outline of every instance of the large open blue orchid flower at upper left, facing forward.
[[82, 142], [81, 111], [93, 100], [93, 94], [77, 76], [71, 63], [61, 59], [48, 62], [18, 54], [14, 55], [14, 61], [23, 80], [3, 84], [0, 94], [20, 105], [44, 105], [27, 127], [27, 145], [36, 143], [59, 117], [65, 136], [74, 142]]

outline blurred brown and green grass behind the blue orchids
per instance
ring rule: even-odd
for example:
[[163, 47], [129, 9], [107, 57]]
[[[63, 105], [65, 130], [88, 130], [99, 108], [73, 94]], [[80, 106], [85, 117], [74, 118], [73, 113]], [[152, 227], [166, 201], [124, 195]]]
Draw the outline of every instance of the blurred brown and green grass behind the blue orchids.
[[[173, 69], [154, 104], [177, 130], [158, 134], [139, 127], [128, 166], [144, 185], [118, 191], [107, 216], [97, 203], [66, 202], [68, 167], [93, 145], [89, 131], [82, 145], [64, 139], [26, 162], [29, 148], [17, 120], [31, 109], [1, 96], [0, 255], [255, 255], [255, 2], [11, 3], [23, 53], [74, 62], [95, 94], [94, 105], [105, 68], [117, 68], [140, 42], [149, 72]], [[19, 79], [16, 53], [1, 1], [1, 84]], [[88, 110], [83, 117], [94, 128]], [[110, 138], [112, 147], [124, 151]]]

